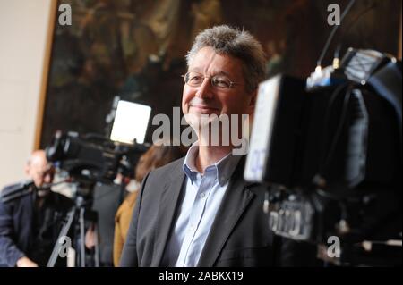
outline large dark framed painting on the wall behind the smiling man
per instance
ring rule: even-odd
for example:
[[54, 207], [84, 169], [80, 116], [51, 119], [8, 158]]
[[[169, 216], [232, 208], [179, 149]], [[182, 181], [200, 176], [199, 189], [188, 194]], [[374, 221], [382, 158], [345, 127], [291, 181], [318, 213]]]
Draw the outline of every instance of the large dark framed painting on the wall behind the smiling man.
[[[218, 24], [247, 29], [262, 42], [267, 76], [306, 78], [333, 28], [328, 6], [347, 0], [60, 0], [71, 25], [55, 17], [39, 147], [56, 130], [108, 136], [114, 99], [150, 105], [172, 116], [181, 105], [184, 55], [199, 31]], [[401, 2], [356, 1], [323, 63], [339, 46], [398, 54]], [[383, 21], [384, 15], [388, 21]], [[135, 122], [133, 122], [135, 123]], [[150, 132], [157, 126], [150, 125]], [[146, 141], [150, 142], [150, 134]]]

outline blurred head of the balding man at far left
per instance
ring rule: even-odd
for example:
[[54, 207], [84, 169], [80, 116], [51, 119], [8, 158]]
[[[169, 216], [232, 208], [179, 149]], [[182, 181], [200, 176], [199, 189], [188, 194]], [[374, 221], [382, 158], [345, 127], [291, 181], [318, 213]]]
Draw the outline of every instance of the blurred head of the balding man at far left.
[[28, 175], [34, 181], [37, 188], [41, 188], [45, 183], [51, 183], [55, 170], [45, 157], [41, 155], [32, 157], [28, 166]]

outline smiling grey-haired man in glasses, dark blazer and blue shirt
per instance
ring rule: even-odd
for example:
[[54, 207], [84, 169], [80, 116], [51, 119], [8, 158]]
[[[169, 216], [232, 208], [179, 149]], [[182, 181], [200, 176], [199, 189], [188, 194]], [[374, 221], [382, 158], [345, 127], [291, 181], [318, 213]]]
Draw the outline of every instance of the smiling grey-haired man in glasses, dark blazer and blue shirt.
[[[187, 155], [142, 181], [121, 266], [278, 266], [294, 264], [288, 242], [269, 230], [264, 189], [243, 179], [238, 147], [211, 145], [212, 128], [252, 115], [264, 79], [261, 44], [244, 31], [206, 29], [187, 54], [182, 108], [198, 141]], [[239, 132], [242, 120], [230, 124]], [[286, 246], [287, 244], [287, 246]]]

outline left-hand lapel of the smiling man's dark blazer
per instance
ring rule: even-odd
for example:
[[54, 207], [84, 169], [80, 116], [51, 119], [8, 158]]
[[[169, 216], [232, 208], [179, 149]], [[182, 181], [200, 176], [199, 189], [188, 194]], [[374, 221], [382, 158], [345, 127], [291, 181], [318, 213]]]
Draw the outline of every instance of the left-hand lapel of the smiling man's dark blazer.
[[172, 172], [170, 180], [164, 187], [159, 200], [159, 217], [157, 219], [156, 242], [154, 243], [154, 253], [151, 267], [160, 266], [162, 256], [169, 238], [176, 214], [176, 207], [180, 198], [184, 183], [184, 172], [182, 170], [183, 160], [176, 164], [176, 169]]

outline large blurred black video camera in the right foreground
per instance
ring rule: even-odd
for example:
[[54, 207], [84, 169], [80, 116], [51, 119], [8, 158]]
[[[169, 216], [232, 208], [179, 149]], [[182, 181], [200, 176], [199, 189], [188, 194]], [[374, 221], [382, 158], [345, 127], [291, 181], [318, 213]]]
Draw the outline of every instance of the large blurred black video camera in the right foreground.
[[401, 63], [372, 50], [262, 82], [244, 178], [267, 185], [270, 230], [338, 238], [336, 264], [401, 264], [401, 96]]

